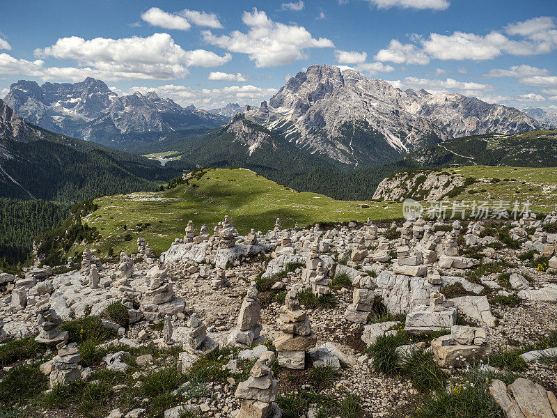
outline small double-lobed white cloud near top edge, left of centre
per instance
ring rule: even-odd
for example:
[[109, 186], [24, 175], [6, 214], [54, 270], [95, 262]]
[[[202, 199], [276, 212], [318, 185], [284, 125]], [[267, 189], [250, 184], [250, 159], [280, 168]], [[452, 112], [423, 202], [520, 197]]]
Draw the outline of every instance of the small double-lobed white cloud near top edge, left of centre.
[[164, 29], [177, 29], [187, 31], [191, 23], [198, 26], [207, 26], [214, 29], [222, 28], [221, 22], [214, 13], [198, 12], [196, 10], [184, 9], [179, 13], [168, 13], [158, 7], [152, 7], [141, 15], [148, 24], [159, 26]]

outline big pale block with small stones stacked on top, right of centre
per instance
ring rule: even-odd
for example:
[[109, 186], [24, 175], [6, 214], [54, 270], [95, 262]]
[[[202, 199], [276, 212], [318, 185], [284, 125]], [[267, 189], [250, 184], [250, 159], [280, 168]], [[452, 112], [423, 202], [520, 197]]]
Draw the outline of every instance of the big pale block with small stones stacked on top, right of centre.
[[[434, 277], [432, 277], [432, 280]], [[433, 331], [450, 330], [457, 321], [457, 309], [445, 306], [445, 296], [432, 292], [430, 306], [419, 304], [406, 316], [405, 330], [409, 334], [427, 334]]]

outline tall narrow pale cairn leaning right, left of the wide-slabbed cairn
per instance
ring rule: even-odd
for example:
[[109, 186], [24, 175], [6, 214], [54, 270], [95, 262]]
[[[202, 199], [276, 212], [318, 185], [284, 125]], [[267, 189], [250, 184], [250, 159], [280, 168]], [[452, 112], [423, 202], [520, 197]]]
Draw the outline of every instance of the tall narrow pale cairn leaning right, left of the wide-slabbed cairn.
[[238, 330], [230, 334], [232, 336], [230, 345], [246, 348], [259, 338], [262, 330], [262, 325], [259, 323], [261, 318], [261, 302], [257, 294], [256, 282], [252, 281], [242, 302], [242, 307], [240, 307]]

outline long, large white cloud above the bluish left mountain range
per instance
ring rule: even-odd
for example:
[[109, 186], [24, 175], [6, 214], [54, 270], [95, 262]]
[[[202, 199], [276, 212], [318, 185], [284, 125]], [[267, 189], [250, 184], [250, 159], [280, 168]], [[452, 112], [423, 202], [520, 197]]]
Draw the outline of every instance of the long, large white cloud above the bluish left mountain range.
[[205, 49], [185, 51], [168, 33], [147, 38], [61, 38], [56, 44], [36, 49], [36, 55], [74, 59], [80, 66], [115, 78], [175, 79], [188, 74], [188, 67], [214, 67], [230, 61], [230, 54], [219, 56]]

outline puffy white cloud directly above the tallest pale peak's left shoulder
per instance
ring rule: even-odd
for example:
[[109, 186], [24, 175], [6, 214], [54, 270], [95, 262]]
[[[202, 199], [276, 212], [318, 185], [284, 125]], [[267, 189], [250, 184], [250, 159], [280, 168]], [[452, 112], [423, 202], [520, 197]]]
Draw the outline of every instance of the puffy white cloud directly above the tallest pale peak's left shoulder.
[[244, 24], [249, 26], [247, 33], [233, 31], [228, 36], [216, 36], [211, 31], [203, 31], [203, 38], [230, 52], [249, 54], [256, 67], [273, 67], [306, 59], [306, 49], [333, 48], [327, 38], [313, 38], [303, 26], [276, 23], [265, 12], [253, 8], [253, 13], [244, 12]]

